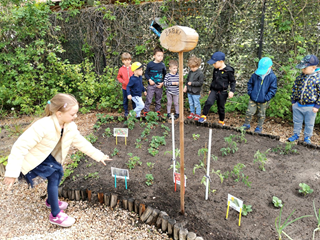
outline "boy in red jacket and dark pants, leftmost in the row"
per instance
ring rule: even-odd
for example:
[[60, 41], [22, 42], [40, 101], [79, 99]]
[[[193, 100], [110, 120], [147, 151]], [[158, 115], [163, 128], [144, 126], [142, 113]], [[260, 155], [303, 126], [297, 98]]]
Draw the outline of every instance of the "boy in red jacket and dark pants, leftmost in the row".
[[[123, 95], [123, 108], [124, 108], [124, 116], [128, 116], [128, 97], [127, 97], [127, 85], [129, 83], [130, 77], [133, 75], [131, 71], [131, 55], [130, 53], [124, 52], [121, 55], [121, 61], [124, 64], [118, 72], [117, 79], [120, 83], [122, 83], [122, 95]], [[132, 109], [136, 108], [136, 104], [132, 101]]]

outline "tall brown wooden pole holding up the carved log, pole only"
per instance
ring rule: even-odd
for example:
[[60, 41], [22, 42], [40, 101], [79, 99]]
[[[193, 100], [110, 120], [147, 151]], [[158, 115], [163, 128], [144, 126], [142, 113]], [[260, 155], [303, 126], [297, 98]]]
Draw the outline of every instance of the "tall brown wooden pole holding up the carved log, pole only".
[[184, 111], [183, 111], [183, 52], [179, 52], [179, 113], [180, 113], [180, 212], [184, 215]]

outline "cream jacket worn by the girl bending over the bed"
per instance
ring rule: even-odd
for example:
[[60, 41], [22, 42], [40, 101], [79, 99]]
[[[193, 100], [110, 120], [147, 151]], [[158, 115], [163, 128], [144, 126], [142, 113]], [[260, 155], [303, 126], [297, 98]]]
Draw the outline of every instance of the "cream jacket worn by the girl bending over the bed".
[[77, 129], [74, 122], [61, 126], [55, 115], [41, 118], [30, 126], [14, 143], [8, 157], [5, 177], [17, 178], [26, 175], [41, 164], [51, 153], [57, 162], [63, 164], [71, 144], [96, 161], [104, 154], [92, 146]]

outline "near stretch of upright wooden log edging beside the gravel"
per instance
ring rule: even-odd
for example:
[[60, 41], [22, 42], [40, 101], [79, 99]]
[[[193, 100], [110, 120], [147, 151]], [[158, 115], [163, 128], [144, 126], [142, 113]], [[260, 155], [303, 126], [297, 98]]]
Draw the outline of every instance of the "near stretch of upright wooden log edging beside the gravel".
[[135, 212], [140, 217], [141, 222], [155, 225], [162, 232], [167, 232], [167, 235], [174, 240], [203, 240], [202, 237], [197, 237], [194, 232], [189, 232], [181, 223], [170, 218], [166, 212], [147, 206], [138, 199], [120, 196], [116, 193], [93, 193], [89, 189], [79, 190], [68, 189], [67, 187], [59, 187], [58, 194], [59, 197], [68, 198], [69, 200], [88, 200], [92, 204], [105, 204], [111, 209], [119, 206], [130, 212]]

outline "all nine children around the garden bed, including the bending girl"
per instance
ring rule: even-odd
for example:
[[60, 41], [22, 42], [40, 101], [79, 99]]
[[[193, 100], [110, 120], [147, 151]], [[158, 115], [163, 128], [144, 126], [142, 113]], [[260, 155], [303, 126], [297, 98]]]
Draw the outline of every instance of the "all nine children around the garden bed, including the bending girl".
[[[179, 76], [177, 74], [178, 63], [169, 62], [169, 73], [163, 60], [163, 50], [154, 50], [154, 61], [147, 65], [145, 77], [148, 80], [147, 89], [143, 86], [143, 65], [135, 62], [131, 65], [131, 55], [122, 54], [124, 66], [120, 68], [118, 80], [122, 83], [123, 105], [125, 114], [128, 115], [128, 100], [132, 100], [136, 116], [144, 109], [146, 115], [149, 111], [152, 98], [155, 95], [155, 110], [160, 114], [163, 85], [166, 87], [168, 99], [167, 114], [170, 116], [172, 102], [175, 106], [174, 118], [179, 117]], [[200, 106], [200, 92], [204, 82], [204, 74], [200, 67], [201, 59], [192, 56], [188, 60], [189, 74], [185, 81], [183, 91], [187, 93], [190, 105], [189, 119], [203, 123], [206, 121], [211, 106], [217, 101], [219, 124], [224, 125], [225, 103], [227, 98], [232, 98], [236, 80], [234, 69], [225, 64], [225, 54], [215, 52], [208, 64], [213, 65], [213, 77], [210, 91], [205, 102], [202, 116]], [[302, 124], [305, 124], [304, 141], [310, 143], [316, 114], [320, 107], [320, 69], [317, 68], [319, 60], [314, 55], [307, 55], [296, 67], [302, 69], [302, 73], [296, 78], [292, 88], [292, 109], [294, 122], [294, 135], [288, 140], [299, 139]], [[252, 74], [248, 82], [248, 95], [250, 101], [246, 112], [245, 129], [250, 128], [252, 116], [258, 110], [258, 126], [255, 132], [262, 131], [265, 112], [270, 100], [277, 91], [277, 78], [272, 71], [272, 60], [262, 58], [258, 69]], [[228, 88], [230, 91], [228, 92]], [[142, 101], [142, 93], [146, 103]], [[111, 161], [108, 155], [103, 154], [91, 145], [77, 130], [74, 120], [79, 110], [78, 101], [69, 94], [57, 94], [48, 100], [45, 108], [45, 117], [33, 123], [14, 143], [8, 157], [4, 183], [9, 189], [19, 177], [24, 179], [32, 187], [37, 179], [47, 179], [47, 200], [44, 205], [51, 209], [49, 221], [62, 227], [74, 224], [75, 219], [63, 212], [68, 207], [66, 202], [58, 200], [58, 186], [63, 176], [62, 164], [64, 163], [71, 144], [77, 147], [91, 158], [105, 165], [105, 161]]]

